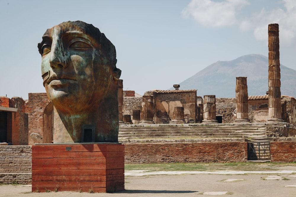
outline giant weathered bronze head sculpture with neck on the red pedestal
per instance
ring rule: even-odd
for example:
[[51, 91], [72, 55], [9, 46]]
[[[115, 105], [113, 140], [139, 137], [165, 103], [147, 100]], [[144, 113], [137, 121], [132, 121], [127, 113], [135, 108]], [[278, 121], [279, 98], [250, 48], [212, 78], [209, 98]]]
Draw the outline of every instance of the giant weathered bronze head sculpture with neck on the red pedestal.
[[54, 105], [54, 143], [118, 142], [114, 45], [82, 21], [48, 29], [38, 43], [43, 85]]

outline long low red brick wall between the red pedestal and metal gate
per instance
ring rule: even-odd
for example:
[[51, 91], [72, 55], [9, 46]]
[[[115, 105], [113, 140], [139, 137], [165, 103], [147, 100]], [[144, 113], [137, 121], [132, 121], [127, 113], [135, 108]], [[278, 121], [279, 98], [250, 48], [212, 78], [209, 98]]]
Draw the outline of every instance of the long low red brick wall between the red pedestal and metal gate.
[[125, 163], [246, 162], [247, 142], [125, 144]]

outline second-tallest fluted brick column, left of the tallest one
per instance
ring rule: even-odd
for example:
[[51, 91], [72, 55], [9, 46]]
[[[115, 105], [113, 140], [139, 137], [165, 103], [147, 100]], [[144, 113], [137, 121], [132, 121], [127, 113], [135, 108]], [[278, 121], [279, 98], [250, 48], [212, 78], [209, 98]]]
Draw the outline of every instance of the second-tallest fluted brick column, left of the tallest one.
[[237, 119], [235, 119], [235, 122], [250, 122], [247, 77], [237, 77], [235, 97], [237, 100]]

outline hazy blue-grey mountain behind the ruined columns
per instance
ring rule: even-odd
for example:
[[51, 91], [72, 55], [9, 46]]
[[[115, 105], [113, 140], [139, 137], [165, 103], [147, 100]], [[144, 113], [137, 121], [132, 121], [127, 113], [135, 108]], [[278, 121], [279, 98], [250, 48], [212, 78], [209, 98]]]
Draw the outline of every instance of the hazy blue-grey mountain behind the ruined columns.
[[[296, 97], [296, 71], [281, 65], [281, 95]], [[180, 83], [180, 89], [197, 89], [197, 95], [235, 97], [236, 77], [246, 76], [248, 95], [268, 91], [268, 57], [258, 54], [217, 61]]]

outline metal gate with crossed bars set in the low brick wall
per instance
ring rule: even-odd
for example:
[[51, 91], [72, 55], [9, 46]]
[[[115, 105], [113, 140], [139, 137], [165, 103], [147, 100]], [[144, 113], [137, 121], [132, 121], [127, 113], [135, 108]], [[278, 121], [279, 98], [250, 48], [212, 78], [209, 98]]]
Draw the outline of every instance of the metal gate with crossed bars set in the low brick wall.
[[270, 160], [270, 142], [248, 142], [248, 160]]

